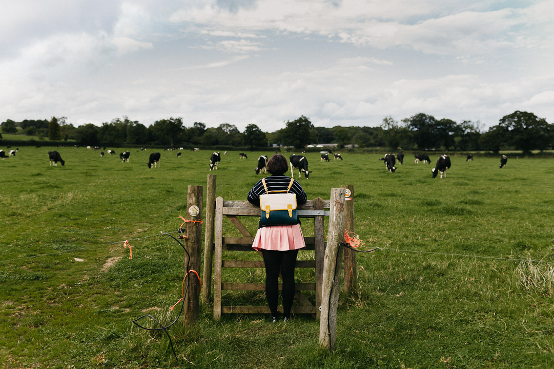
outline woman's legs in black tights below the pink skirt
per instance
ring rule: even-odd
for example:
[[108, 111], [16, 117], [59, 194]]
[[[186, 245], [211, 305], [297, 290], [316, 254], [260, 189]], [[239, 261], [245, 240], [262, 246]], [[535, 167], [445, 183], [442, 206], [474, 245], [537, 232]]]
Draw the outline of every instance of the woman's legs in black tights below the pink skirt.
[[283, 313], [290, 315], [294, 300], [294, 266], [298, 250], [273, 251], [261, 249], [265, 263], [265, 297], [268, 299], [271, 315], [277, 315], [279, 299], [279, 271], [283, 279]]

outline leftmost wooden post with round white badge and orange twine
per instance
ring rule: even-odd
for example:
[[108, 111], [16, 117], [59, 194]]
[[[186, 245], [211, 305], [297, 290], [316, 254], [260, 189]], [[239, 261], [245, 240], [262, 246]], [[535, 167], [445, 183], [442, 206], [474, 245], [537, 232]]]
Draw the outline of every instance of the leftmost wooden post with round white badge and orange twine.
[[[185, 247], [190, 256], [188, 263], [189, 270], [200, 270], [201, 247], [202, 247], [202, 200], [203, 186], [188, 186], [187, 193], [187, 217], [185, 224], [186, 235]], [[191, 222], [192, 221], [192, 222]], [[187, 264], [184, 264], [187, 267]], [[188, 271], [185, 271], [188, 272]], [[190, 326], [198, 321], [200, 284], [196, 274], [188, 274], [188, 289], [184, 297], [184, 325]]]

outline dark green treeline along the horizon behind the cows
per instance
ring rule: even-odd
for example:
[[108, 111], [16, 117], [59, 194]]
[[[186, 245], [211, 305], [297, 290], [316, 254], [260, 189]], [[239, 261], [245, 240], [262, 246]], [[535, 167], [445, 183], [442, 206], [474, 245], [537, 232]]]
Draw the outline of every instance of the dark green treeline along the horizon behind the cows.
[[39, 140], [48, 137], [51, 141], [72, 140], [80, 145], [113, 147], [127, 144], [256, 149], [279, 144], [301, 149], [308, 144], [337, 144], [338, 148], [355, 145], [407, 150], [489, 150], [495, 153], [502, 149], [529, 153], [554, 148], [554, 124], [534, 113], [522, 111], [502, 117], [498, 124], [485, 132], [481, 131], [479, 122], [458, 123], [452, 119], [435, 119], [424, 113], [400, 122], [385, 117], [379, 127], [315, 127], [309, 118], [300, 116], [285, 122], [285, 128], [275, 132], [263, 132], [256, 124], [248, 124], [244, 132], [229, 123], [207, 128], [202, 122], [194, 122], [186, 127], [181, 117], [161, 119], [146, 127], [127, 116], [101, 126], [88, 123], [74, 127], [66, 122], [65, 117], [52, 117], [21, 122], [7, 119], [0, 127], [2, 133], [33, 136]]

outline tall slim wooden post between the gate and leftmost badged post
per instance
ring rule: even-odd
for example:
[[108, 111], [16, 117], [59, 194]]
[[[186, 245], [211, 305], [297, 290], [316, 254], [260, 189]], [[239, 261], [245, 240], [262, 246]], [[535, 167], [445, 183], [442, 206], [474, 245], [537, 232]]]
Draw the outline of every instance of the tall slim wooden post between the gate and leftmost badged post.
[[213, 222], [216, 214], [216, 179], [217, 175], [208, 174], [208, 186], [206, 190], [206, 237], [204, 237], [204, 270], [202, 280], [202, 301], [209, 303], [212, 293], [212, 259], [213, 259]]

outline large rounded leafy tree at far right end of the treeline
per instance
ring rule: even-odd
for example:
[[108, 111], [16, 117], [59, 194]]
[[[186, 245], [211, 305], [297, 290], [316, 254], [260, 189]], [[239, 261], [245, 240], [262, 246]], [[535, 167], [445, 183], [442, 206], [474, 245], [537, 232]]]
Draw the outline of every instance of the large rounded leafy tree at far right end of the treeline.
[[498, 126], [507, 131], [508, 143], [524, 153], [533, 149], [544, 150], [552, 145], [552, 125], [533, 113], [517, 110], [502, 117]]

